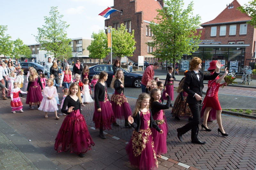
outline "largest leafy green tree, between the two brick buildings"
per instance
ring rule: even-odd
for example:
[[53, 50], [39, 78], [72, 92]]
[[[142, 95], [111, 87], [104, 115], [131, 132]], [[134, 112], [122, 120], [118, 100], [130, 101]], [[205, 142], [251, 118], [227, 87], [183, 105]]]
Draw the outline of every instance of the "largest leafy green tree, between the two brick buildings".
[[149, 24], [153, 42], [149, 43], [156, 50], [151, 54], [161, 58], [162, 61], [179, 60], [183, 54], [191, 55], [198, 48], [200, 34], [196, 27], [200, 24], [200, 16], [193, 17], [193, 1], [183, 10], [183, 0], [164, 0], [163, 9], [156, 10], [157, 23]]

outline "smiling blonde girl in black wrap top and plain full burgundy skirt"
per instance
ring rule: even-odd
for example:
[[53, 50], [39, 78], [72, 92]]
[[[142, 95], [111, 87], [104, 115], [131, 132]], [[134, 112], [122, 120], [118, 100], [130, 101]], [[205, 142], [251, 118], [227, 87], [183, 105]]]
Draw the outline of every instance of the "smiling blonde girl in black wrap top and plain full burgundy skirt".
[[[58, 152], [76, 153], [84, 157], [84, 153], [94, 146], [92, 137], [89, 134], [84, 116], [80, 114], [81, 103], [80, 88], [76, 82], [72, 83], [68, 95], [64, 100], [61, 112], [67, 114], [61, 124], [60, 130], [55, 139], [54, 149]], [[68, 110], [66, 109], [68, 107]]]

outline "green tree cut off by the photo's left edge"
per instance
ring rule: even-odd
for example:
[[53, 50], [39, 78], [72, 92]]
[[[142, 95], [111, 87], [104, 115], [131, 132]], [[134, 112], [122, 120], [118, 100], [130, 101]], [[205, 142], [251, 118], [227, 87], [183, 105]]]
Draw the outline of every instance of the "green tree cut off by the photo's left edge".
[[5, 34], [7, 26], [0, 25], [0, 55], [10, 56], [12, 54], [12, 40], [9, 34]]

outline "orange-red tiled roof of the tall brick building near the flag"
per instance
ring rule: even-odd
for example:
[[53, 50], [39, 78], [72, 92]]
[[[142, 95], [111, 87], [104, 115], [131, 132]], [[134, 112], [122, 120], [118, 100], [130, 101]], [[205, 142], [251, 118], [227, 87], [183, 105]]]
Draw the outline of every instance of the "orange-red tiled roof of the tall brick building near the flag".
[[158, 1], [155, 0], [137, 0], [137, 9], [136, 12], [143, 11], [144, 13], [144, 20], [157, 22], [156, 15], [158, 12], [157, 9], [162, 9]]

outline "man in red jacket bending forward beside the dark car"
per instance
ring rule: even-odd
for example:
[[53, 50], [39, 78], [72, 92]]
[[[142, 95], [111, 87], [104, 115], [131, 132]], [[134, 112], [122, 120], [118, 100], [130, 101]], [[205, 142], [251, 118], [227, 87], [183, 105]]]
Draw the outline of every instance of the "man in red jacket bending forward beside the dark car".
[[159, 62], [155, 62], [153, 65], [148, 66], [144, 71], [143, 76], [141, 78], [141, 91], [143, 93], [146, 92], [148, 80], [154, 79], [154, 70], [157, 70], [159, 66]]

